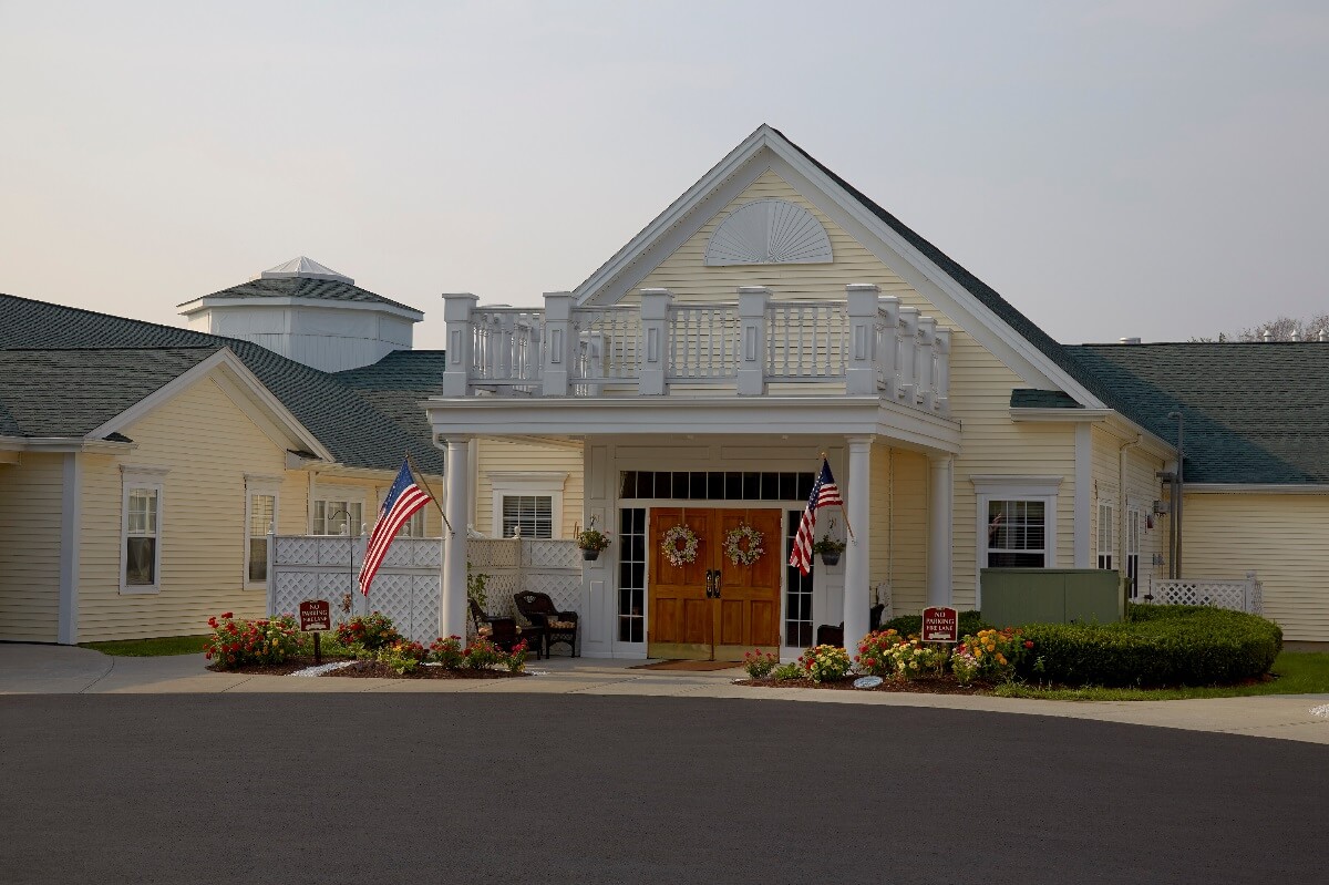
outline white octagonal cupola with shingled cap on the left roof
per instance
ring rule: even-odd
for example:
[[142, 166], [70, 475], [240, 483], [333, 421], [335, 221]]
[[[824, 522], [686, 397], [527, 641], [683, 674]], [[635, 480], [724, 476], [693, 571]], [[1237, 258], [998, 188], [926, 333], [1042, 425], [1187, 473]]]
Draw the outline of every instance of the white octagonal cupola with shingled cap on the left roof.
[[294, 258], [247, 283], [179, 306], [189, 327], [260, 344], [324, 372], [411, 349], [421, 311], [360, 288], [330, 267]]

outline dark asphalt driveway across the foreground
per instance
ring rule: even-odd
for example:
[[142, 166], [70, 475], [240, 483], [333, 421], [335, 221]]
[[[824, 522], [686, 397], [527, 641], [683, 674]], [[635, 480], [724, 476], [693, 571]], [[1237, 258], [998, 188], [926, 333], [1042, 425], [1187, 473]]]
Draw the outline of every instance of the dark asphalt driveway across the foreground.
[[1277, 882], [1314, 744], [896, 706], [0, 698], [5, 882]]

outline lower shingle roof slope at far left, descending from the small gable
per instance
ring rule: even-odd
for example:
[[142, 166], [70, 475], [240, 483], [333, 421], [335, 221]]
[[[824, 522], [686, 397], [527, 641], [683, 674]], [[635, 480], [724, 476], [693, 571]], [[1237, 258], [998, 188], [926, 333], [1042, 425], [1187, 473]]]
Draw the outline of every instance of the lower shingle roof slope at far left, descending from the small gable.
[[0, 351], [0, 435], [86, 436], [219, 349]]

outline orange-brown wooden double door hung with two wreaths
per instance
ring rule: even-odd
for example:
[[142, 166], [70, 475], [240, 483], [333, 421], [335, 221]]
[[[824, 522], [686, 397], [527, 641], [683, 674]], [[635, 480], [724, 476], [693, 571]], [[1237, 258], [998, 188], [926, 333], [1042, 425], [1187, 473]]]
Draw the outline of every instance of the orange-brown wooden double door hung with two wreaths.
[[[754, 648], [780, 651], [780, 569], [784, 538], [771, 510], [655, 508], [651, 510], [646, 654], [651, 658], [742, 660]], [[764, 553], [752, 565], [724, 555], [726, 536], [742, 525], [762, 533]], [[686, 525], [696, 558], [672, 565], [664, 533]]]

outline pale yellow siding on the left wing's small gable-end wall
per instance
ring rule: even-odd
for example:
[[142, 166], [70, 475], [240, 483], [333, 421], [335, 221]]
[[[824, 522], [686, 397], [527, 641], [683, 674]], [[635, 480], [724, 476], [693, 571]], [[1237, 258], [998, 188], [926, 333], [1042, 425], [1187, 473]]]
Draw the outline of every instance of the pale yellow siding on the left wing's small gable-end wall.
[[[205, 377], [125, 429], [138, 448], [86, 456], [80, 549], [80, 640], [206, 633], [209, 615], [262, 617], [267, 598], [245, 590], [245, 474], [283, 476], [286, 453]], [[122, 464], [165, 468], [161, 591], [121, 595]], [[303, 480], [303, 477], [300, 477]], [[283, 485], [284, 488], [290, 485]], [[283, 494], [288, 525], [303, 497]]]

